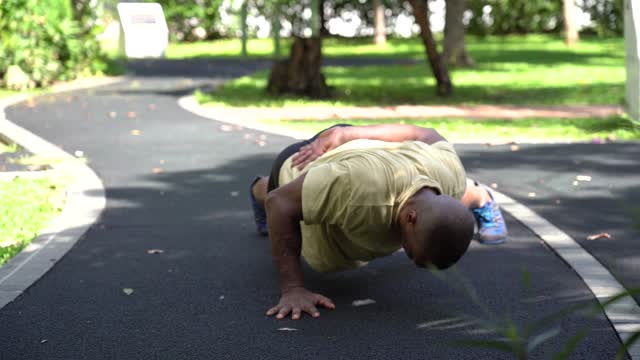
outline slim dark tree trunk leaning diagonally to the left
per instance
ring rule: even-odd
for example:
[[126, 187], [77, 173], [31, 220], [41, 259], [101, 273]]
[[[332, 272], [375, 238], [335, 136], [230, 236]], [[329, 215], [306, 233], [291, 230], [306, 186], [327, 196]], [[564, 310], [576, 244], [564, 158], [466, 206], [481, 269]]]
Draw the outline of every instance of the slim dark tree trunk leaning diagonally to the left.
[[453, 91], [453, 85], [449, 78], [449, 70], [438, 53], [438, 46], [433, 38], [433, 33], [431, 33], [429, 14], [427, 13], [427, 2], [425, 0], [409, 0], [409, 4], [413, 7], [416, 23], [420, 26], [420, 37], [422, 38], [427, 58], [431, 64], [431, 70], [436, 77], [438, 95], [449, 96]]

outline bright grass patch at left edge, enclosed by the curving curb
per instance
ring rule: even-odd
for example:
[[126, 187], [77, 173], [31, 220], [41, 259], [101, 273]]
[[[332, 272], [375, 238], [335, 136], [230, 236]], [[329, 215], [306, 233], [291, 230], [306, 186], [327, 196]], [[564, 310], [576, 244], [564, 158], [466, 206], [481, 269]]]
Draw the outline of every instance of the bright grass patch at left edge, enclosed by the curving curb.
[[0, 181], [0, 265], [26, 247], [60, 212], [63, 181]]

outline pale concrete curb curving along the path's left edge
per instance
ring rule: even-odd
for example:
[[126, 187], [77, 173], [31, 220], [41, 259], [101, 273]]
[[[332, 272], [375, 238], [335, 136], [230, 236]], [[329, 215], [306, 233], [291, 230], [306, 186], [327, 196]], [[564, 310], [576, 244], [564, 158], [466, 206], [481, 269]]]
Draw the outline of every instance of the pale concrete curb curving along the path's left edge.
[[[81, 90], [124, 80], [124, 77], [93, 79], [56, 86], [52, 90], [53, 93]], [[62, 213], [31, 244], [0, 268], [0, 309], [49, 271], [98, 220], [106, 206], [104, 186], [93, 170], [71, 154], [7, 120], [5, 108], [30, 97], [20, 94], [0, 101], [0, 136], [35, 155], [60, 159], [53, 168], [68, 174], [72, 183], [67, 188]]]

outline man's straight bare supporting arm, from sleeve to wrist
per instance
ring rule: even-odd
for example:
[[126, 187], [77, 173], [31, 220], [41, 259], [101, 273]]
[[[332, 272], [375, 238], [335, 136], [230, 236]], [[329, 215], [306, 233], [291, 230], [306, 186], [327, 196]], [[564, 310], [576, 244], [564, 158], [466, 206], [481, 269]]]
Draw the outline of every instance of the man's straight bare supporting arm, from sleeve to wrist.
[[265, 203], [271, 255], [280, 273], [283, 292], [304, 287], [300, 265], [303, 182], [304, 175], [270, 192]]

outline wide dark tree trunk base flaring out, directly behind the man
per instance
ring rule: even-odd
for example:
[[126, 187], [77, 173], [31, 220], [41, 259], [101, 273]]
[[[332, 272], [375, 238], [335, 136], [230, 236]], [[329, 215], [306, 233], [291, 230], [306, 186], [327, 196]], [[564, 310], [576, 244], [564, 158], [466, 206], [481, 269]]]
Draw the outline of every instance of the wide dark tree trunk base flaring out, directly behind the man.
[[331, 97], [322, 74], [322, 41], [320, 37], [295, 38], [289, 58], [274, 63], [267, 84], [273, 95], [294, 94], [314, 99]]

